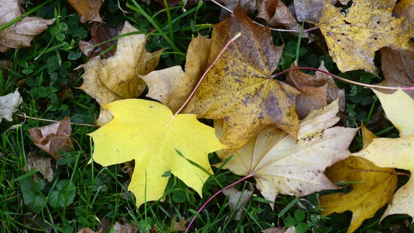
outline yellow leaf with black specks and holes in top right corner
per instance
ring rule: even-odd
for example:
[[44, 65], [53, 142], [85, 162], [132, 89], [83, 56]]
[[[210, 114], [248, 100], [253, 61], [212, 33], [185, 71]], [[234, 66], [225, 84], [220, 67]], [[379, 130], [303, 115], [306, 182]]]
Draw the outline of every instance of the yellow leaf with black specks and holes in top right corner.
[[[341, 72], [363, 69], [376, 74], [374, 53], [382, 47], [409, 49], [414, 37], [413, 0], [354, 0], [349, 9], [334, 7], [331, 0], [295, 0], [299, 21], [318, 26]], [[412, 49], [412, 48], [411, 48]]]

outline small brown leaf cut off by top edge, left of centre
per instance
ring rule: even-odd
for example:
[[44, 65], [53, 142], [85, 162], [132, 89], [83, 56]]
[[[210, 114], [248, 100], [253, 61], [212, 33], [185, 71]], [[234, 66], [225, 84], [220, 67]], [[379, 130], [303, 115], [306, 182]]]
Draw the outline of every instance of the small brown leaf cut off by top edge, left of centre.
[[79, 14], [79, 22], [86, 23], [88, 21], [102, 22], [99, 16], [99, 8], [103, 0], [68, 0], [69, 4]]

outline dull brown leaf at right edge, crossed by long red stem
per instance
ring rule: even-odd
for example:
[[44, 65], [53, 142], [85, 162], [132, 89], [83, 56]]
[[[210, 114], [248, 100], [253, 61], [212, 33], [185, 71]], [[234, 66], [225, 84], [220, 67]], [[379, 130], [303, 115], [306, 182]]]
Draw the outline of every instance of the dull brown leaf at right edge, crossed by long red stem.
[[[381, 48], [379, 51], [381, 52], [381, 70], [385, 79], [377, 85], [386, 87], [414, 86], [414, 51], [398, 51], [389, 47]], [[379, 91], [386, 94], [395, 92], [395, 90], [388, 89]], [[414, 91], [404, 90], [404, 92], [414, 98]]]

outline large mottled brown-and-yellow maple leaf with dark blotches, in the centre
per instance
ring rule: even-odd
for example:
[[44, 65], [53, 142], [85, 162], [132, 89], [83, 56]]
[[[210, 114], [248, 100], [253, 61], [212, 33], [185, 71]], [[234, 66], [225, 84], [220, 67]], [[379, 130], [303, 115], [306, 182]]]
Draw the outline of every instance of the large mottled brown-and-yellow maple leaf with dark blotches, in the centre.
[[254, 24], [240, 6], [214, 27], [209, 64], [239, 32], [240, 38], [217, 60], [185, 111], [199, 118], [224, 119], [221, 142], [232, 150], [245, 145], [265, 125], [277, 125], [296, 137], [295, 98], [300, 92], [271, 77], [283, 47], [275, 46], [270, 30]]

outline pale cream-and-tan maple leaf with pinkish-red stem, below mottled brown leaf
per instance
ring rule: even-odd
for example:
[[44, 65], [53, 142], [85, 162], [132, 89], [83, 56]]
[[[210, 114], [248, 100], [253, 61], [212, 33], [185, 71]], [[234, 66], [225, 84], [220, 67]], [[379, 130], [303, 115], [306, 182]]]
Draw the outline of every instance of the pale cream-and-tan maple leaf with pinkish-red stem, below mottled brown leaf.
[[[348, 146], [356, 133], [354, 128], [329, 128], [338, 122], [338, 110], [338, 101], [313, 110], [301, 122], [300, 129], [305, 130], [300, 131], [298, 140], [275, 127], [263, 129], [235, 152], [223, 168], [237, 175], [253, 175], [257, 189], [271, 201], [279, 193], [304, 196], [338, 188], [324, 175], [324, 170], [349, 156]], [[215, 127], [220, 127], [217, 123]], [[216, 134], [220, 133], [220, 129], [216, 130]], [[225, 158], [223, 153], [218, 155]]]

